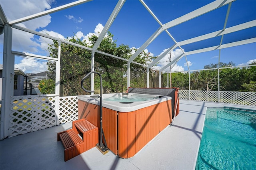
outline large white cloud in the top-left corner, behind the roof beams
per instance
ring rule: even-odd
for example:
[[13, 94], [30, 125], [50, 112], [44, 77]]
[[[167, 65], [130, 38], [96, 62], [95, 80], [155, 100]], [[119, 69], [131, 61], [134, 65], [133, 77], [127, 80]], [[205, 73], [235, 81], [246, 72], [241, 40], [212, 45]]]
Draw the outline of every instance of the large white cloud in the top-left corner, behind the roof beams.
[[[45, 9], [50, 9], [54, 0], [26, 0], [26, 1], [14, 1], [14, 0], [2, 0], [1, 6], [6, 14], [8, 21], [30, 16], [38, 12], [42, 12]], [[29, 10], [28, 10], [29, 9]], [[40, 18], [36, 18], [30, 21], [26, 21], [18, 24], [18, 26], [28, 28], [30, 30], [36, 30], [48, 26], [51, 22], [51, 16], [46, 15]], [[1, 43], [3, 38], [1, 35]], [[26, 51], [31, 53], [38, 52], [40, 43], [36, 42], [33, 34], [13, 29], [12, 35], [12, 49], [16, 51]]]

